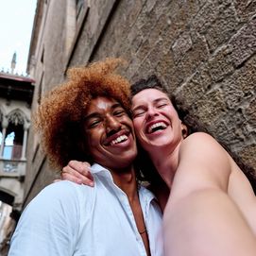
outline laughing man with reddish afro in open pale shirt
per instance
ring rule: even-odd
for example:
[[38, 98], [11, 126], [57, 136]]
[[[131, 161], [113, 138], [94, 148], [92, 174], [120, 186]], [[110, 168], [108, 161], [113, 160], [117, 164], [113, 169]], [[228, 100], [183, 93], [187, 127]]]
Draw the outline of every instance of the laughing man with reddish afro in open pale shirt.
[[62, 168], [92, 163], [94, 188], [60, 181], [26, 207], [9, 256], [163, 255], [162, 213], [137, 182], [137, 147], [128, 111], [129, 83], [107, 59], [73, 68], [35, 113], [43, 149]]

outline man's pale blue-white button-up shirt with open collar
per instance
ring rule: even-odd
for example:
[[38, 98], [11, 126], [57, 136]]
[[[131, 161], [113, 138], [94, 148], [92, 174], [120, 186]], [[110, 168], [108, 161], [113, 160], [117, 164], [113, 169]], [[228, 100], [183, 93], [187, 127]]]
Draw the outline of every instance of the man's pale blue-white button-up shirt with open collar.
[[[126, 194], [111, 173], [94, 164], [94, 188], [60, 181], [43, 189], [22, 214], [9, 256], [145, 256]], [[151, 256], [162, 256], [162, 213], [139, 189]]]

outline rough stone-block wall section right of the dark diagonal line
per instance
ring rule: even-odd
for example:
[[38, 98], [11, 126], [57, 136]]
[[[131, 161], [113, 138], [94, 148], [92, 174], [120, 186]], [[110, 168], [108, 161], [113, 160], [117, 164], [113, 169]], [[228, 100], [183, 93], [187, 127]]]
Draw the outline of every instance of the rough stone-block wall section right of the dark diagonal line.
[[[131, 4], [132, 2], [132, 4]], [[155, 73], [256, 170], [256, 1], [120, 1], [92, 59]]]

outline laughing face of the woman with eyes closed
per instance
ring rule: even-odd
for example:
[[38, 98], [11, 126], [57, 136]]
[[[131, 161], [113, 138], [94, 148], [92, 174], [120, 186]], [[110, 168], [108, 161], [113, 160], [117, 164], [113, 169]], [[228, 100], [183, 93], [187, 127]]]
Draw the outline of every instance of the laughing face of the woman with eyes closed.
[[131, 110], [135, 133], [146, 151], [182, 140], [181, 121], [167, 94], [145, 89], [133, 96]]

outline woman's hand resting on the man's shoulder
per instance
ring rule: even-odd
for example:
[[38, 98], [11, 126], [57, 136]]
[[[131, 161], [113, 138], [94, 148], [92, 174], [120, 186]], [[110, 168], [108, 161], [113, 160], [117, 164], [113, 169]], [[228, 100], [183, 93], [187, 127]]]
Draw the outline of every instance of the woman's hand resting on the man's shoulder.
[[68, 165], [63, 167], [61, 179], [93, 187], [94, 177], [90, 172], [90, 168], [91, 165], [88, 162], [70, 161]]

